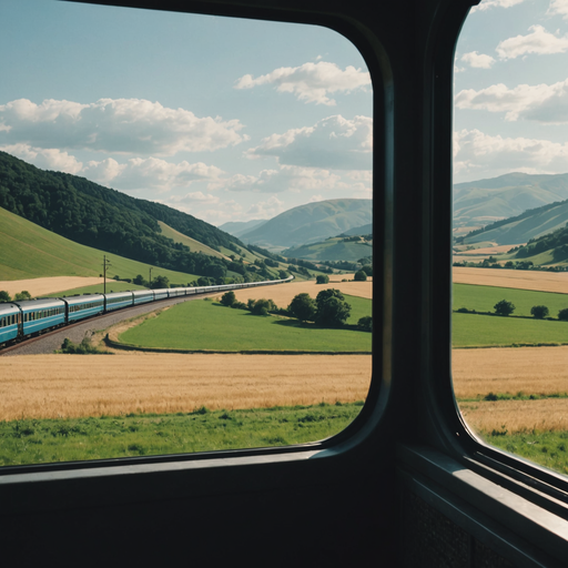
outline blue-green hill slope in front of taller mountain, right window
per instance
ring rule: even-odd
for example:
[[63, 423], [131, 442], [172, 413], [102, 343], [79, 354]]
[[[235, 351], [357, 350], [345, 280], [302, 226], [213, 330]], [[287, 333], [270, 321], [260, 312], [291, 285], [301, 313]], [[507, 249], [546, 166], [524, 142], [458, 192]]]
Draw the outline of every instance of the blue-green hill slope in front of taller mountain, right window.
[[464, 236], [464, 244], [493, 241], [519, 244], [557, 231], [568, 222], [568, 200], [525, 211], [520, 215], [497, 221]]

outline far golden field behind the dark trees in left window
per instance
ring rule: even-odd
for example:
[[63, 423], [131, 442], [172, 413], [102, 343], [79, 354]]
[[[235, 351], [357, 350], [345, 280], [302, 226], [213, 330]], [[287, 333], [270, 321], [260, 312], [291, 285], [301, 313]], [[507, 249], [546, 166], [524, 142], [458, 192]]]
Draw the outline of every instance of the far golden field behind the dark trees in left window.
[[313, 298], [318, 292], [327, 288], [341, 290], [344, 294], [351, 296], [373, 297], [372, 278], [366, 282], [341, 282], [342, 278], [353, 278], [353, 274], [343, 274], [341, 276], [331, 276], [329, 284], [316, 284], [315, 281], [292, 282], [290, 284], [276, 284], [274, 286], [258, 286], [257, 288], [245, 288], [235, 291], [235, 296], [240, 302], [246, 302], [250, 297], [257, 300], [261, 297], [271, 298], [278, 307], [286, 307], [297, 294], [307, 293]]

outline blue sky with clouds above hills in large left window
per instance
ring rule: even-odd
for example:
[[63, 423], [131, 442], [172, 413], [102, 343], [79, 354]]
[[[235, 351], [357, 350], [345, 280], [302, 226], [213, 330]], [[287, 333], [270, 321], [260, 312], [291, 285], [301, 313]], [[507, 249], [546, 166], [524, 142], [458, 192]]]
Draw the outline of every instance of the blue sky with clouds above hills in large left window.
[[214, 225], [372, 196], [373, 90], [314, 26], [0, 2], [0, 150]]

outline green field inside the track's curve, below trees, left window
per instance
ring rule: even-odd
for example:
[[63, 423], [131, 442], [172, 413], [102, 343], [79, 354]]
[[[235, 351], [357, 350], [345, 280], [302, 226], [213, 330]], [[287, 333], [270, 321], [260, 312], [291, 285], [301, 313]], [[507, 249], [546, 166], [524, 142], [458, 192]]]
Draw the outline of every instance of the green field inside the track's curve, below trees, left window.
[[120, 335], [121, 342], [138, 347], [223, 352], [371, 352], [371, 339], [366, 332], [322, 329], [200, 300], [173, 306]]

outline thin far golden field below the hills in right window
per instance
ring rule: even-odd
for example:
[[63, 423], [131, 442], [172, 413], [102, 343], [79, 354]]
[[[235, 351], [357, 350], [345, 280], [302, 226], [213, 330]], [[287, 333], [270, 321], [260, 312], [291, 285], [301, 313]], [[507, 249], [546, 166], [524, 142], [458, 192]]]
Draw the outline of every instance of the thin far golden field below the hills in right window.
[[480, 286], [568, 293], [567, 272], [531, 272], [454, 266], [453, 277], [456, 284], [478, 284]]

